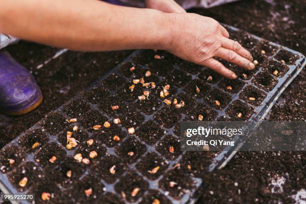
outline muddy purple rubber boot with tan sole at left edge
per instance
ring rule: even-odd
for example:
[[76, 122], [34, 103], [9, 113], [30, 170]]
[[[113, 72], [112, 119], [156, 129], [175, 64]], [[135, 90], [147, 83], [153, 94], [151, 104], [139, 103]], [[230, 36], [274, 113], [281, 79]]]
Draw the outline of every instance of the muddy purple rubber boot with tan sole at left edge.
[[0, 112], [22, 115], [42, 101], [41, 90], [32, 74], [7, 52], [0, 51]]

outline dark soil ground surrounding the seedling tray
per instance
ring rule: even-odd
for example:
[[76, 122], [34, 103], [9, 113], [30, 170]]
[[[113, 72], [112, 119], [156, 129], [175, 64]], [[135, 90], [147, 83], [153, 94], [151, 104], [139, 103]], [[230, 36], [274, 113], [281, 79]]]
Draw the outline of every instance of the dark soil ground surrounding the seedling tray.
[[[305, 7], [303, 0], [242, 0], [190, 12], [211, 16], [305, 54]], [[42, 89], [44, 101], [24, 116], [0, 115], [0, 147], [131, 53], [68, 51], [37, 68], [58, 49], [19, 42], [6, 50], [32, 71]], [[305, 81], [306, 71], [302, 70], [273, 106], [267, 119], [305, 120]], [[226, 167], [205, 176], [204, 194], [198, 203], [294, 203], [290, 196], [306, 188], [305, 155], [305, 152], [238, 152]], [[275, 176], [286, 178], [282, 193], [271, 192], [270, 183]]]

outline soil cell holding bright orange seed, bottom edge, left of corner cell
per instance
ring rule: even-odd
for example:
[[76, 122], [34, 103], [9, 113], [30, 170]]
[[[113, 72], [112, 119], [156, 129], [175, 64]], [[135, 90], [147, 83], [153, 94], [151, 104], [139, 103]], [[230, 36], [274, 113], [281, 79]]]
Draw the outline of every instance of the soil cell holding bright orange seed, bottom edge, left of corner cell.
[[134, 202], [143, 196], [148, 186], [147, 181], [143, 180], [137, 173], [130, 171], [121, 176], [114, 189], [122, 197], [125, 197], [127, 201]]

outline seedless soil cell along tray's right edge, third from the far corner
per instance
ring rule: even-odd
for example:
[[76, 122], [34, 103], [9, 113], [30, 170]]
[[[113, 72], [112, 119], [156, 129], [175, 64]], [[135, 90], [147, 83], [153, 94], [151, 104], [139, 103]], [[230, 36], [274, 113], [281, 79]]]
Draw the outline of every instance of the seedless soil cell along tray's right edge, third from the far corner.
[[270, 74], [268, 71], [263, 71], [263, 72], [258, 73], [252, 79], [252, 82], [263, 90], [272, 90], [273, 87], [277, 83], [277, 79], [275, 76]]

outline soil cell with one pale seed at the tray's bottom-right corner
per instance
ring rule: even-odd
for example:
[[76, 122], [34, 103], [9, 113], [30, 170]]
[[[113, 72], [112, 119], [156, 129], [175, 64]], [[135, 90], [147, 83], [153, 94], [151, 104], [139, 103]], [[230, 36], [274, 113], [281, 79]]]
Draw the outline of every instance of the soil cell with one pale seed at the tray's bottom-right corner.
[[177, 166], [166, 172], [162, 179], [159, 180], [158, 185], [162, 190], [168, 191], [169, 195], [174, 199], [179, 199], [185, 191], [190, 190], [194, 186], [194, 183], [184, 173], [183, 169]]

